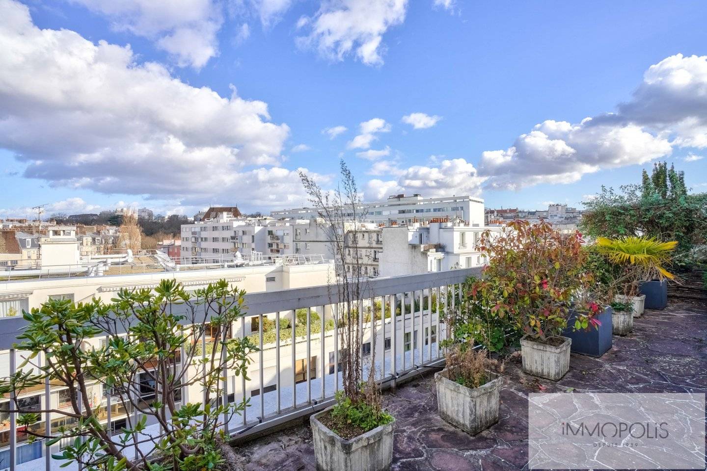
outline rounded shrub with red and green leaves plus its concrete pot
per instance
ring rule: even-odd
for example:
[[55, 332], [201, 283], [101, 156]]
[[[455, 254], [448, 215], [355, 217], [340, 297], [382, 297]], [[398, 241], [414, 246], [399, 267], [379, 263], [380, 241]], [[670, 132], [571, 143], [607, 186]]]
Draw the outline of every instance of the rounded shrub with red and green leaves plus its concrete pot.
[[[524, 333], [520, 339], [523, 371], [559, 380], [569, 369], [572, 340], [563, 329], [575, 292], [586, 285], [579, 232], [563, 234], [548, 222], [515, 220], [493, 237], [484, 232], [479, 250], [489, 258], [475, 289], [502, 318]], [[595, 326], [592, 311], [581, 312], [580, 325]]]

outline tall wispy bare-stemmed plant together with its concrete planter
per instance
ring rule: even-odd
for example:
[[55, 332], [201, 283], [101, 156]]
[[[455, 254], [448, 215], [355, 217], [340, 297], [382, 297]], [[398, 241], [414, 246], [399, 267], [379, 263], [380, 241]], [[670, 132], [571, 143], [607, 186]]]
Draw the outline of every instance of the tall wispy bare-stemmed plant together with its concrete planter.
[[[319, 208], [318, 220], [327, 234], [335, 254], [337, 266], [350, 263], [346, 260], [345, 241], [351, 249], [358, 250], [358, 222], [366, 215], [356, 187], [356, 181], [341, 160], [341, 185], [336, 191], [322, 191], [315, 181], [300, 172], [300, 179], [310, 202]], [[358, 303], [364, 297], [363, 273], [360, 259], [341, 270], [336, 280], [327, 285], [331, 304], [336, 304], [339, 329], [343, 390], [337, 393], [336, 403], [322, 412], [310, 416], [317, 470], [320, 471], [382, 471], [390, 468], [393, 452], [393, 425], [395, 419], [382, 410], [380, 388], [375, 381], [375, 340], [371, 338], [368, 378], [364, 381], [361, 342], [363, 332], [358, 326], [363, 321]]]

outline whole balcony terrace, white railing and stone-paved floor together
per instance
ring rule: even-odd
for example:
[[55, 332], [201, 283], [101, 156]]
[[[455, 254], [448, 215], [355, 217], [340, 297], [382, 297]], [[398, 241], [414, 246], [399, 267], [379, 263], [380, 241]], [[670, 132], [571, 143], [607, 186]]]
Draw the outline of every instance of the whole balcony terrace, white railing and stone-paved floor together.
[[[463, 433], [437, 414], [431, 373], [438, 371], [444, 362], [438, 342], [447, 338], [445, 323], [437, 314], [448, 307], [445, 302], [452, 306], [457, 302], [460, 295], [457, 283], [479, 274], [479, 269], [467, 268], [370, 279], [361, 293], [364, 309], [372, 300], [380, 301], [382, 306], [380, 316], [378, 312], [368, 318], [361, 316], [358, 328], [363, 342], [376, 336], [375, 348], [369, 354], [375, 359], [376, 376], [382, 388], [396, 386], [394, 393], [383, 396], [385, 410], [397, 421], [392, 469], [522, 469], [527, 463], [528, 393], [707, 391], [702, 374], [707, 371], [707, 356], [701, 343], [701, 339], [707, 338], [707, 311], [698, 304], [670, 304], [665, 311], [647, 310], [634, 321], [631, 335], [614, 336], [614, 350], [601, 359], [573, 354], [570, 371], [558, 382], [522, 374], [519, 359], [511, 357], [506, 364], [501, 393], [500, 421], [477, 436]], [[235, 388], [228, 390], [229, 395], [250, 396], [245, 415], [235, 417], [227, 427], [230, 436], [243, 442], [236, 449], [241, 460], [238, 464], [247, 470], [313, 471], [312, 434], [302, 421], [312, 412], [331, 405], [335, 391], [341, 387], [341, 376], [335, 372], [341, 335], [332, 327], [339, 320], [332, 304], [338, 299], [336, 294], [332, 298], [325, 286], [249, 293], [245, 298], [247, 316], [237, 326], [240, 332], [237, 335], [247, 335], [245, 326], [252, 324], [252, 318], [258, 318], [257, 325], [264, 326], [264, 316], [291, 319], [294, 311], [301, 308], [319, 313], [320, 323], [303, 332], [293, 329], [285, 332], [276, 323], [273, 330], [253, 334], [260, 351], [252, 355], [251, 383], [241, 383], [240, 377], [232, 381], [233, 375], [225, 372], [225, 382], [233, 385], [229, 388]], [[423, 302], [410, 309], [414, 305], [411, 298]], [[425, 302], [430, 299], [436, 299], [436, 304]], [[400, 315], [387, 316], [401, 308]], [[9, 350], [13, 357], [13, 342], [25, 320], [17, 316], [2, 318], [0, 322], [4, 323], [0, 350]], [[406, 333], [412, 335], [410, 340], [405, 340]], [[380, 341], [385, 338], [390, 338], [390, 343]], [[333, 362], [329, 360], [330, 352], [334, 354]], [[10, 362], [10, 373], [17, 365]], [[365, 377], [367, 366], [363, 372]], [[197, 399], [192, 395], [190, 400]], [[285, 422], [295, 425], [283, 430]], [[148, 424], [148, 431], [150, 427], [158, 425]], [[269, 435], [252, 440], [262, 434]], [[7, 446], [0, 443], [0, 447], [28, 446], [22, 435], [16, 428], [16, 436], [7, 434], [9, 443]], [[61, 445], [55, 444], [49, 453], [59, 453]], [[22, 451], [17, 453], [18, 457], [25, 456]], [[37, 470], [49, 470], [50, 465], [53, 469], [56, 463], [44, 458], [23, 463], [23, 467]]]

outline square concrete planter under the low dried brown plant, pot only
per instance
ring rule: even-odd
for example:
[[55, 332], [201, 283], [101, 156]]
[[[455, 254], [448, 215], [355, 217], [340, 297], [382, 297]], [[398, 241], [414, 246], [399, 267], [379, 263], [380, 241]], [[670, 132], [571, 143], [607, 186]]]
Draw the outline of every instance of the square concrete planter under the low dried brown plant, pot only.
[[467, 388], [447, 378], [446, 372], [445, 369], [435, 374], [440, 417], [472, 435], [498, 422], [500, 376], [489, 371], [491, 381], [478, 388]]

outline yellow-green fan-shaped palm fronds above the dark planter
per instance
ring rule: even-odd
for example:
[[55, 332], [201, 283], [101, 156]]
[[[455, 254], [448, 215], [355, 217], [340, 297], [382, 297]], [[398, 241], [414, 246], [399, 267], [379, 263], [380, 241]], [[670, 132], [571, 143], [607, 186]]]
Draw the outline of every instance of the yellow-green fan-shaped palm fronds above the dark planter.
[[640, 278], [675, 279], [675, 275], [664, 266], [670, 263], [671, 253], [677, 246], [676, 241], [660, 242], [655, 237], [599, 237], [597, 246], [600, 252], [607, 254], [609, 261], [636, 273], [636, 284], [641, 281]]

